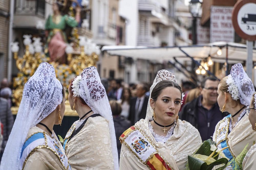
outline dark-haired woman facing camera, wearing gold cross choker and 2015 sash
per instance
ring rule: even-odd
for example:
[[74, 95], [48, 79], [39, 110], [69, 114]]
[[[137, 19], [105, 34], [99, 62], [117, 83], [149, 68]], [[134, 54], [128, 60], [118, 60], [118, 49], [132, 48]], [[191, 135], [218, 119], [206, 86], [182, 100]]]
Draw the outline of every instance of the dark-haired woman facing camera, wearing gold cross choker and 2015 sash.
[[183, 96], [172, 73], [157, 72], [146, 118], [120, 137], [120, 169], [186, 169], [202, 140], [195, 127], [178, 119]]

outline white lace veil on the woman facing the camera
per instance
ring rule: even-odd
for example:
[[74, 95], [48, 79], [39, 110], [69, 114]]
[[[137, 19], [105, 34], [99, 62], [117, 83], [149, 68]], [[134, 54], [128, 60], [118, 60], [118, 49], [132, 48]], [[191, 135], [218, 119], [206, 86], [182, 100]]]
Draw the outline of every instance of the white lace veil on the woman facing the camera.
[[152, 93], [154, 87], [157, 85], [157, 83], [159, 83], [163, 80], [170, 80], [170, 81], [176, 83], [175, 75], [173, 73], [171, 73], [167, 70], [159, 70], [157, 72], [156, 78], [155, 78], [152, 86], [150, 87], [150, 96], [149, 96], [148, 103], [147, 103], [146, 117], [148, 117], [149, 119], [152, 119], [152, 116], [153, 116], [153, 109], [150, 106], [151, 93]]

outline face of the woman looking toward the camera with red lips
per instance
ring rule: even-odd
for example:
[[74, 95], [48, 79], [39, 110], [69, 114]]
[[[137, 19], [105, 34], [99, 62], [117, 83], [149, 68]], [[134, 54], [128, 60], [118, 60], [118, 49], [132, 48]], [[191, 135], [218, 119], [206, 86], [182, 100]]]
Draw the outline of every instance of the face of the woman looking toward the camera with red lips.
[[180, 90], [175, 87], [166, 87], [156, 101], [150, 99], [150, 105], [155, 108], [156, 122], [162, 125], [172, 124], [179, 112], [181, 102]]

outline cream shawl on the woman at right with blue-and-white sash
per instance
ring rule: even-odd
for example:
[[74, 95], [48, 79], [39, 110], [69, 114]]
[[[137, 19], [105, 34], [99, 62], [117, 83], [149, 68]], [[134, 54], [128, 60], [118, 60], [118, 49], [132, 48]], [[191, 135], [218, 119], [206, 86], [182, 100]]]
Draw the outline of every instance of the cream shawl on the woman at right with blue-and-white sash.
[[[219, 129], [219, 124], [220, 122], [215, 127], [213, 141], [216, 141], [216, 133], [217, 129]], [[254, 140], [256, 140], [256, 132], [252, 130], [252, 125], [250, 124], [248, 116], [244, 115], [228, 134], [229, 150], [235, 157], [237, 157], [243, 151], [247, 143], [249, 143], [248, 148], [250, 148], [253, 145]]]

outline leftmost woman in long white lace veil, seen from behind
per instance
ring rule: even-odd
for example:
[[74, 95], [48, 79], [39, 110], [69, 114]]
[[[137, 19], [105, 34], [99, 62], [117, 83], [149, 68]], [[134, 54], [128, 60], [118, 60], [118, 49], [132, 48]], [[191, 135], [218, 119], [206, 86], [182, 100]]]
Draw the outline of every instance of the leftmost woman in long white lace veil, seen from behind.
[[0, 169], [70, 169], [52, 130], [61, 124], [65, 90], [54, 67], [42, 62], [24, 86], [22, 100], [7, 141]]

